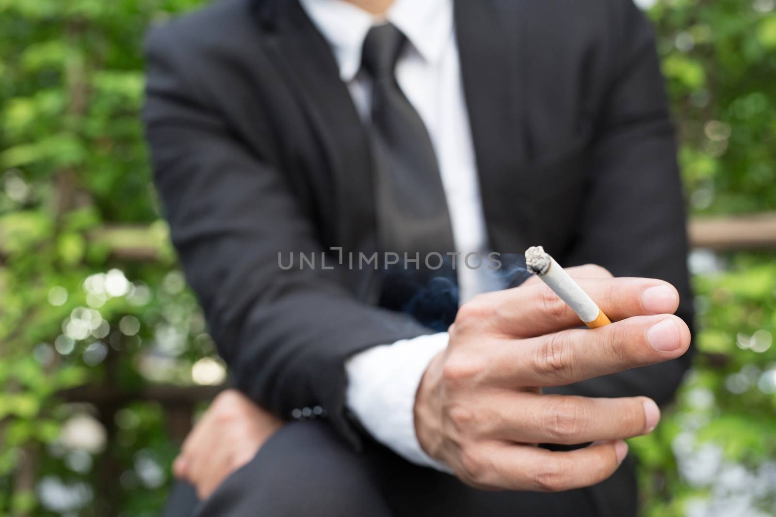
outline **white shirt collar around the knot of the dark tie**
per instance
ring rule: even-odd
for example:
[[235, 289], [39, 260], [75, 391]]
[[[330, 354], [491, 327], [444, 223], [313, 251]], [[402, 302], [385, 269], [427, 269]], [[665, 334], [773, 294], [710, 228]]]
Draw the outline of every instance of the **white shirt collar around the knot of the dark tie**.
[[435, 63], [442, 57], [452, 33], [452, 0], [395, 0], [384, 18], [345, 0], [300, 0], [307, 16], [331, 45], [342, 81], [355, 78], [361, 67], [361, 49], [373, 25], [391, 22], [417, 53]]

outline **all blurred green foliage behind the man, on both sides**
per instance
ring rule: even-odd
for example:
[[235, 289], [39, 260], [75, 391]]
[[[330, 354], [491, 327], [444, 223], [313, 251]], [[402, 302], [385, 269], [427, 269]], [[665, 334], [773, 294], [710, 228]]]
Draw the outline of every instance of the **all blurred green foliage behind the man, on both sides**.
[[[0, 515], [157, 515], [177, 447], [165, 409], [98, 414], [57, 394], [220, 380], [137, 119], [145, 30], [202, 3], [0, 0]], [[650, 9], [693, 213], [776, 209], [774, 4]], [[151, 232], [104, 231], [126, 223]], [[115, 253], [138, 239], [157, 258]], [[691, 264], [701, 353], [660, 427], [632, 440], [643, 514], [776, 515], [776, 264]]]

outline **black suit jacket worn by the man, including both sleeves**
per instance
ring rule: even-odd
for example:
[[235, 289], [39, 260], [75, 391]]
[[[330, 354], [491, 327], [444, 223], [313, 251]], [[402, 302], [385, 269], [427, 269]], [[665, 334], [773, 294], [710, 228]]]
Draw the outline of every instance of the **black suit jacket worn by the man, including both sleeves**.
[[[662, 278], [689, 320], [674, 131], [632, 0], [457, 0], [455, 17], [492, 248]], [[369, 271], [279, 269], [279, 252], [377, 249], [369, 146], [327, 42], [295, 0], [224, 0], [154, 30], [147, 58], [172, 240], [238, 386], [279, 415], [320, 405], [358, 443], [345, 359], [430, 330], [376, 307]], [[557, 391], [663, 403], [687, 366]]]

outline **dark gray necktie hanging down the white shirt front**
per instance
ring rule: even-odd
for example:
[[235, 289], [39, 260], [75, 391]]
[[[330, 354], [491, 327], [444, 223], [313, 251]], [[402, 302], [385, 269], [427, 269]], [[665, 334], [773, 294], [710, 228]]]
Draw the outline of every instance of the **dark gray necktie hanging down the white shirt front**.
[[[456, 271], [445, 255], [455, 247], [431, 139], [393, 73], [404, 43], [404, 34], [386, 24], [369, 30], [362, 50], [362, 69], [372, 78], [369, 133], [376, 166], [379, 244], [402, 259], [404, 253], [411, 260], [420, 253], [420, 264], [400, 261], [384, 272], [380, 305], [445, 330], [458, 309]], [[431, 252], [440, 256], [431, 257], [426, 267]]]

